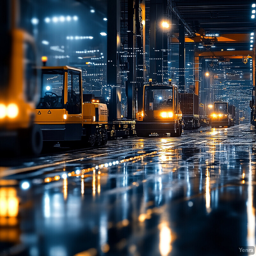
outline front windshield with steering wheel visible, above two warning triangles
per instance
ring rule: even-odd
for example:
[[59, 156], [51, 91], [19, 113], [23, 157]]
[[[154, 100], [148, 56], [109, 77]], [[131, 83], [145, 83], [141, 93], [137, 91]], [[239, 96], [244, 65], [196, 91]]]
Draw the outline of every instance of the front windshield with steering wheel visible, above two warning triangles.
[[38, 109], [63, 108], [64, 70], [42, 70], [42, 91]]

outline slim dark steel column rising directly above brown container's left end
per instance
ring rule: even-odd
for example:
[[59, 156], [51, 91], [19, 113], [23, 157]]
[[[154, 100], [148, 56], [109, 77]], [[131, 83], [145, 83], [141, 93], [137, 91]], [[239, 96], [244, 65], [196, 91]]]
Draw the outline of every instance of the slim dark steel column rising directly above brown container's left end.
[[185, 26], [180, 21], [179, 26], [179, 90], [185, 92]]

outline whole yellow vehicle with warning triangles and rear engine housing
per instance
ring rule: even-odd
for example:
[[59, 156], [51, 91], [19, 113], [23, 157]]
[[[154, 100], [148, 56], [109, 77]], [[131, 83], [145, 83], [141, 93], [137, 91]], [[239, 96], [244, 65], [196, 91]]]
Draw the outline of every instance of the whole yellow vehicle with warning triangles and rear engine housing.
[[100, 146], [107, 143], [107, 105], [83, 95], [82, 70], [42, 67], [42, 90], [36, 108], [45, 144]]

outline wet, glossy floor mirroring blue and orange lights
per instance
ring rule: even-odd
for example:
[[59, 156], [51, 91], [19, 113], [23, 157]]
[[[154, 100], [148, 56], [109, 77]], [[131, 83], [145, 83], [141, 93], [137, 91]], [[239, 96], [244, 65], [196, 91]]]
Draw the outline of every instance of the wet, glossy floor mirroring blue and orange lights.
[[254, 133], [201, 131], [132, 139], [132, 154], [0, 180], [0, 256], [237, 255], [254, 246]]

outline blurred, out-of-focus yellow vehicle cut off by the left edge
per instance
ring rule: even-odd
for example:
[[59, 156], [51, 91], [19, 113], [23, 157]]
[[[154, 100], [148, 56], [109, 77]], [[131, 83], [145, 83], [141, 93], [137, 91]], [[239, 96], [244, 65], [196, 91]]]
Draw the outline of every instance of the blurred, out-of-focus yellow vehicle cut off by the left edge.
[[39, 91], [36, 47], [34, 38], [19, 28], [18, 12], [17, 1], [0, 1], [0, 148], [38, 155], [43, 141], [34, 124]]

